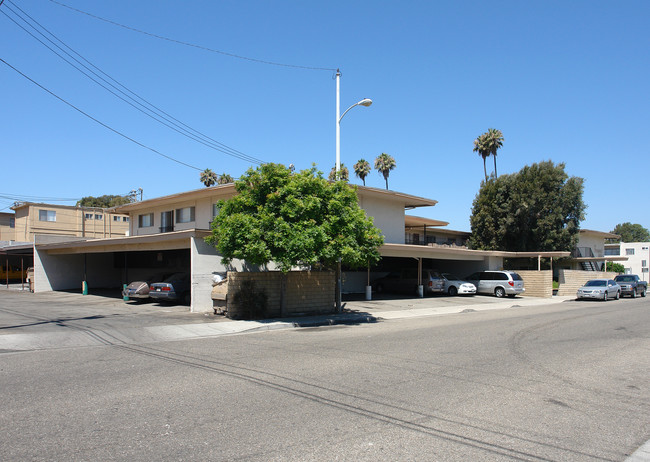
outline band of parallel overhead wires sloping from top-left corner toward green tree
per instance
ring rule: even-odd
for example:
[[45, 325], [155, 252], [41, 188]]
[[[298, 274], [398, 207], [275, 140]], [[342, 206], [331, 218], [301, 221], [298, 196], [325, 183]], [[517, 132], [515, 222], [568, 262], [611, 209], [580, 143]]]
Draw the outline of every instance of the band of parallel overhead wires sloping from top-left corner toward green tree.
[[[7, 2], [7, 3], [8, 3], [8, 4], [13, 4], [13, 3], [10, 2], [10, 1]], [[136, 100], [135, 98], [131, 97], [131, 96], [130, 96], [129, 94], [127, 94], [125, 91], [122, 91], [120, 88], [116, 87], [116, 86], [113, 85], [111, 82], [109, 82], [108, 80], [106, 80], [104, 77], [102, 77], [101, 75], [99, 75], [97, 72], [93, 71], [93, 70], [90, 69], [88, 66], [86, 66], [84, 63], [82, 63], [81, 61], [79, 61], [79, 59], [77, 59], [77, 58], [75, 58], [74, 56], [72, 56], [72, 55], [71, 55], [70, 53], [68, 53], [65, 49], [63, 49], [61, 46], [59, 46], [57, 43], [55, 43], [55, 42], [52, 41], [50, 38], [48, 38], [45, 34], [43, 34], [43, 32], [41, 32], [40, 30], [38, 30], [38, 29], [37, 29], [37, 28], [36, 28], [32, 23], [30, 23], [27, 19], [25, 19], [25, 17], [21, 16], [19, 13], [17, 13], [15, 10], [13, 10], [13, 9], [11, 8], [11, 6], [7, 6], [6, 9], [8, 9], [9, 11], [11, 11], [11, 12], [12, 12], [14, 15], [16, 15], [20, 20], [22, 20], [25, 24], [27, 24], [29, 27], [31, 27], [31, 28], [32, 28], [34, 31], [36, 31], [39, 35], [41, 35], [45, 40], [47, 40], [47, 41], [50, 42], [53, 46], [55, 46], [56, 48], [58, 48], [61, 52], [65, 53], [68, 57], [70, 57], [72, 60], [74, 60], [75, 62], [77, 62], [80, 66], [82, 66], [82, 67], [83, 67], [84, 69], [86, 69], [88, 72], [90, 72], [91, 74], [93, 74], [94, 76], [96, 76], [98, 79], [102, 80], [102, 81], [105, 82], [107, 85], [109, 85], [110, 87], [112, 87], [113, 89], [115, 89], [117, 92], [121, 93], [121, 94], [124, 95], [124, 96], [120, 96], [120, 95], [117, 94], [115, 91], [111, 90], [111, 89], [108, 88], [106, 85], [102, 84], [101, 82], [99, 82], [98, 80], [96, 80], [95, 78], [93, 78], [91, 75], [89, 75], [87, 72], [85, 72], [84, 70], [82, 70], [81, 68], [79, 68], [77, 65], [75, 65], [75, 64], [72, 63], [72, 62], [70, 62], [70, 61], [69, 61], [68, 59], [66, 59], [64, 56], [62, 56], [61, 54], [59, 54], [56, 50], [52, 49], [48, 44], [46, 44], [45, 42], [43, 42], [40, 38], [36, 37], [32, 32], [30, 32], [29, 30], [25, 29], [25, 27], [23, 27], [21, 24], [19, 24], [18, 22], [16, 22], [16, 21], [15, 21], [12, 17], [10, 17], [7, 13], [5, 13], [4, 11], [0, 11], [0, 12], [3, 13], [7, 18], [9, 18], [9, 19], [10, 19], [14, 24], [16, 24], [18, 27], [20, 27], [23, 31], [25, 31], [27, 34], [31, 35], [35, 40], [37, 40], [37, 41], [40, 42], [43, 46], [45, 46], [47, 49], [49, 49], [52, 53], [54, 53], [55, 55], [57, 55], [59, 58], [61, 58], [62, 60], [64, 60], [64, 61], [65, 61], [66, 63], [68, 63], [70, 66], [72, 66], [72, 67], [75, 68], [77, 71], [79, 71], [80, 73], [82, 73], [83, 75], [85, 75], [86, 77], [88, 77], [90, 80], [92, 80], [93, 82], [95, 82], [97, 85], [99, 85], [99, 86], [101, 86], [102, 88], [104, 88], [106, 91], [108, 91], [108, 92], [111, 93], [112, 95], [116, 96], [117, 98], [121, 99], [122, 101], [124, 101], [124, 102], [127, 103], [128, 105], [132, 106], [134, 109], [140, 111], [141, 113], [143, 113], [143, 114], [146, 115], [147, 117], [150, 117], [151, 119], [153, 119], [153, 120], [155, 120], [156, 122], [158, 122], [158, 123], [160, 123], [160, 124], [166, 126], [167, 128], [170, 128], [170, 129], [174, 130], [175, 132], [177, 132], [177, 133], [179, 133], [179, 134], [181, 134], [181, 135], [183, 135], [183, 136], [185, 136], [185, 137], [187, 137], [187, 138], [189, 138], [189, 139], [191, 139], [191, 140], [193, 140], [193, 141], [196, 141], [196, 142], [198, 142], [198, 143], [201, 143], [201, 144], [203, 144], [204, 146], [207, 146], [207, 147], [209, 147], [209, 148], [211, 148], [211, 149], [214, 149], [214, 150], [216, 150], [216, 151], [222, 152], [222, 153], [227, 154], [227, 155], [229, 155], [229, 156], [232, 156], [232, 157], [238, 158], [238, 159], [240, 159], [240, 160], [244, 160], [244, 161], [246, 161], [246, 162], [251, 162], [251, 163], [255, 163], [255, 164], [262, 164], [262, 163], [264, 163], [264, 161], [262, 161], [261, 159], [257, 159], [257, 158], [255, 158], [255, 157], [253, 157], [253, 156], [250, 156], [250, 155], [245, 154], [245, 153], [243, 153], [243, 152], [241, 152], [241, 151], [238, 151], [238, 150], [236, 150], [236, 149], [233, 149], [233, 148], [231, 148], [231, 147], [229, 147], [229, 146], [227, 146], [227, 145], [225, 145], [225, 144], [223, 144], [223, 143], [221, 143], [221, 142], [219, 142], [219, 141], [217, 141], [217, 140], [215, 140], [215, 139], [213, 139], [213, 138], [210, 138], [209, 136], [207, 136], [207, 135], [201, 133], [200, 131], [198, 131], [198, 130], [196, 130], [196, 129], [194, 129], [194, 128], [192, 128], [192, 127], [190, 127], [190, 126], [184, 124], [184, 123], [181, 122], [180, 120], [174, 118], [173, 116], [171, 116], [170, 114], [166, 113], [166, 112], [163, 111], [162, 109], [156, 107], [155, 105], [153, 105], [153, 104], [150, 103], [149, 101], [145, 100], [144, 98], [142, 98], [141, 96], [139, 96], [139, 95], [136, 94], [135, 92], [129, 90], [126, 86], [124, 86], [123, 84], [121, 84], [120, 82], [118, 82], [117, 80], [115, 80], [114, 78], [112, 78], [110, 75], [108, 75], [107, 73], [105, 73], [104, 71], [102, 71], [100, 68], [98, 68], [97, 66], [95, 66], [93, 63], [91, 63], [90, 61], [88, 61], [86, 58], [84, 58], [82, 55], [80, 55], [79, 53], [77, 53], [75, 50], [73, 50], [71, 47], [69, 47], [67, 44], [65, 44], [65, 42], [63, 42], [63, 41], [60, 40], [58, 37], [56, 37], [52, 32], [50, 32], [49, 30], [47, 30], [43, 25], [41, 25], [38, 21], [36, 21], [34, 18], [32, 18], [29, 14], [27, 14], [27, 13], [26, 13], [24, 10], [22, 10], [20, 7], [16, 6], [15, 4], [14, 4], [13, 6], [14, 6], [15, 8], [17, 8], [18, 10], [20, 10], [20, 11], [21, 11], [25, 16], [27, 16], [31, 21], [33, 21], [33, 23], [37, 24], [37, 25], [38, 25], [42, 30], [44, 30], [47, 34], [49, 34], [50, 36], [52, 36], [56, 41], [58, 41], [59, 43], [61, 43], [65, 48], [67, 48], [67, 49], [70, 50], [72, 53], [74, 53], [75, 55], [79, 56], [79, 58], [81, 58], [83, 61], [85, 61], [86, 63], [88, 63], [88, 65], [92, 66], [92, 67], [93, 67], [94, 69], [96, 69], [98, 72], [100, 72], [101, 74], [105, 75], [108, 79], [110, 79], [111, 81], [115, 82], [117, 85], [119, 85], [119, 86], [122, 87], [124, 90], [126, 90], [126, 92], [128, 92], [128, 93], [134, 95], [137, 99], [139, 99], [140, 101], [143, 101], [143, 102], [146, 103], [146, 104], [142, 104], [140, 101], [138, 101], [138, 100]], [[130, 101], [128, 101], [126, 98], [128, 98], [128, 100], [130, 100]], [[137, 105], [137, 106], [136, 106], [136, 105]], [[140, 107], [138, 107], [138, 106], [140, 106]], [[153, 108], [153, 109], [152, 109], [152, 108]], [[145, 112], [145, 111], [146, 111], [146, 112]]]

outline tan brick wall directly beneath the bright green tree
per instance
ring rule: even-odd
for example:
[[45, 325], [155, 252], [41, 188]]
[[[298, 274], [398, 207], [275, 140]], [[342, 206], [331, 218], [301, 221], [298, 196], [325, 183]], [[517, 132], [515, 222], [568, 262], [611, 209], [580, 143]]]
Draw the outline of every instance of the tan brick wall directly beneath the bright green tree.
[[[247, 309], [237, 306], [233, 298], [242, 282], [252, 280], [256, 290], [266, 293], [266, 317], [280, 317], [282, 273], [228, 272], [228, 317], [247, 317]], [[333, 313], [335, 309], [335, 273], [330, 271], [291, 271], [287, 274], [287, 316]]]

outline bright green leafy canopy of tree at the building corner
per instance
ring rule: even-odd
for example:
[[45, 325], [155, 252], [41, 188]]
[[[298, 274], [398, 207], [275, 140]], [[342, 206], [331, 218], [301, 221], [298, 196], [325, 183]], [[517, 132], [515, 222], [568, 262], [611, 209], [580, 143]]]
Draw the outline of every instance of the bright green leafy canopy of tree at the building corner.
[[270, 163], [249, 169], [235, 188], [236, 196], [219, 201], [205, 239], [224, 264], [274, 262], [288, 272], [299, 265], [332, 267], [338, 258], [351, 267], [379, 260], [383, 236], [359, 207], [355, 187], [329, 182], [315, 167], [292, 173]]

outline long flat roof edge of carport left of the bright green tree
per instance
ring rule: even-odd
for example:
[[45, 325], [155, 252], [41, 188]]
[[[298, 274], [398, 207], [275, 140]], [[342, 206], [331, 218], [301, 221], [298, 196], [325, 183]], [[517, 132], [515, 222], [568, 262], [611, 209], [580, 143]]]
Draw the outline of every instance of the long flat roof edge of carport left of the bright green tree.
[[190, 229], [171, 233], [146, 234], [143, 236], [126, 236], [108, 239], [90, 239], [87, 241], [57, 242], [53, 244], [36, 244], [36, 250], [49, 254], [78, 254], [129, 252], [139, 250], [189, 249], [190, 239], [206, 237], [210, 231]]

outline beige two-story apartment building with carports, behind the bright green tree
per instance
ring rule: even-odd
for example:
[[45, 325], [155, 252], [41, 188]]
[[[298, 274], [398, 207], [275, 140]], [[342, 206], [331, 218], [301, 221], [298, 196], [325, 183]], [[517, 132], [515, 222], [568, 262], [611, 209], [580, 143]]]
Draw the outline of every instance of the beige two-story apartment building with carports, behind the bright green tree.
[[[127, 237], [84, 240], [71, 236], [67, 242], [48, 242], [41, 236], [35, 244], [34, 289], [80, 288], [82, 281], [90, 288], [119, 288], [164, 271], [183, 271], [191, 275], [191, 310], [211, 310], [215, 274], [274, 268], [258, 268], [243, 261], [226, 266], [216, 249], [204, 242], [218, 213], [217, 201], [235, 194], [234, 185], [227, 184], [115, 207], [112, 212], [130, 217]], [[357, 187], [357, 195], [361, 208], [382, 231], [385, 244], [379, 249], [381, 267], [365, 271], [344, 268], [344, 292], [363, 293], [368, 278], [385, 274], [388, 266], [436, 268], [464, 276], [502, 269], [504, 257], [569, 256], [569, 252], [470, 250], [464, 245], [469, 233], [442, 229], [445, 222], [405, 214], [406, 210], [435, 206], [435, 200], [365, 186]], [[38, 210], [41, 214], [40, 210], [48, 209]], [[45, 212], [43, 216], [48, 217]]]

